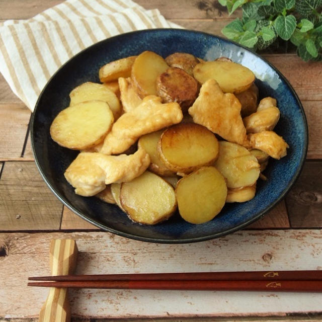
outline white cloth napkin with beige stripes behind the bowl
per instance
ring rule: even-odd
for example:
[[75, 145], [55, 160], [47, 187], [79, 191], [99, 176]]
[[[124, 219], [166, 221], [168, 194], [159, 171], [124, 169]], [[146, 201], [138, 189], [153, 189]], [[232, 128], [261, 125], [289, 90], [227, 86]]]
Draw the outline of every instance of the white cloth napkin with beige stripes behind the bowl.
[[131, 0], [67, 0], [28, 20], [0, 25], [0, 71], [33, 111], [50, 76], [84, 48], [141, 29], [181, 28]]

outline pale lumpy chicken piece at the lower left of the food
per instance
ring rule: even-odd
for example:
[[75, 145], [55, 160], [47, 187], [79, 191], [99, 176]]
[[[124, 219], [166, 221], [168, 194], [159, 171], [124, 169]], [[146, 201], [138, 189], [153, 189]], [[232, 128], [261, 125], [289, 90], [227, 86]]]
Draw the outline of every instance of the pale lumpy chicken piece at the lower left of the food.
[[80, 152], [64, 173], [75, 193], [89, 197], [103, 191], [110, 183], [129, 182], [149, 166], [150, 157], [143, 149], [134, 154], [105, 155]]

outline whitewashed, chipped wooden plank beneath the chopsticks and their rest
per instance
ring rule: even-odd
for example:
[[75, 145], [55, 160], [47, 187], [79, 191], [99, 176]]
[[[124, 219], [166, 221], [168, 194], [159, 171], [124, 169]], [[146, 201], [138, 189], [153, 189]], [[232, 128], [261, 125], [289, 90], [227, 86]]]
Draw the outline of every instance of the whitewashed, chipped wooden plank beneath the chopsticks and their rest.
[[[322, 269], [322, 230], [239, 231], [195, 244], [165, 245], [107, 232], [0, 234], [0, 316], [35, 317], [48, 289], [28, 276], [49, 274], [52, 238], [72, 238], [76, 274]], [[10, 274], [8, 273], [10, 272]], [[73, 316], [176, 318], [319, 312], [322, 293], [70, 290]]]

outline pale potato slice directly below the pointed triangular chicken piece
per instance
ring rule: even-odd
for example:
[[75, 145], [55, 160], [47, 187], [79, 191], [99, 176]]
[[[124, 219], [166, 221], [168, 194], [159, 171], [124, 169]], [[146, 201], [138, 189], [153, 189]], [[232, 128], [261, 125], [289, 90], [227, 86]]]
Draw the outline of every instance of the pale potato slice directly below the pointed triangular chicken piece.
[[252, 186], [260, 175], [257, 158], [247, 148], [227, 141], [219, 141], [214, 166], [226, 178], [228, 188]]

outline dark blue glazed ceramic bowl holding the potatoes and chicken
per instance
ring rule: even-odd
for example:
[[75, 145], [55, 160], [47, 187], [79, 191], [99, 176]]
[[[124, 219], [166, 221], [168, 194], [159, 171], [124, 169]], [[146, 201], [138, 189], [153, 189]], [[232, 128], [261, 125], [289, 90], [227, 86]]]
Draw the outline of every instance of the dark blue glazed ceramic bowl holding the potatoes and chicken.
[[[246, 203], [226, 204], [210, 222], [193, 225], [175, 214], [168, 221], [147, 226], [133, 223], [116, 205], [74, 193], [63, 174], [77, 151], [56, 144], [49, 127], [59, 111], [69, 105], [69, 92], [84, 82], [99, 82], [98, 70], [109, 61], [151, 50], [163, 57], [188, 52], [212, 60], [226, 56], [254, 71], [260, 98], [277, 99], [281, 118], [275, 131], [289, 144], [287, 156], [271, 159], [258, 181], [257, 194]], [[307, 123], [301, 103], [285, 77], [265, 59], [228, 40], [202, 32], [154, 29], [131, 32], [103, 40], [71, 58], [50, 79], [41, 93], [31, 123], [32, 147], [37, 167], [56, 197], [78, 216], [115, 234], [154, 243], [192, 243], [216, 238], [247, 226], [273, 208], [298, 177], [307, 151]]]

